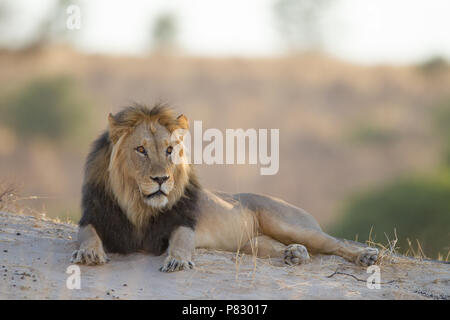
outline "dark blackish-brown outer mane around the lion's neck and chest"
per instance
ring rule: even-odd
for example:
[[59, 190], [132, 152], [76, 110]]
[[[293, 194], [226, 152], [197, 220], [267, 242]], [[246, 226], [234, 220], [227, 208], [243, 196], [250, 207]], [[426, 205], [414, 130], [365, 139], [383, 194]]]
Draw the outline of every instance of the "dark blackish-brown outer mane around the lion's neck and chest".
[[[86, 161], [86, 172], [92, 168], [97, 157], [107, 154], [110, 148], [108, 132], [93, 144]], [[106, 170], [103, 168], [103, 170]], [[98, 173], [97, 173], [98, 174]], [[169, 245], [171, 233], [180, 226], [194, 229], [200, 185], [191, 174], [182, 196], [171, 209], [150, 216], [142, 232], [128, 220], [109, 188], [104, 183], [92, 183], [86, 179], [82, 189], [82, 217], [80, 227], [91, 224], [97, 231], [107, 252], [131, 253], [145, 251], [160, 255]]]

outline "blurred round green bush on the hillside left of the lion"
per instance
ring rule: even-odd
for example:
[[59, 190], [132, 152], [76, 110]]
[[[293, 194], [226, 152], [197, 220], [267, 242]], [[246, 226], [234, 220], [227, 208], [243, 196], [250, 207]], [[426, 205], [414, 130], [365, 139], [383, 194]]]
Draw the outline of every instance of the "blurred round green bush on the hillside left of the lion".
[[89, 104], [69, 77], [35, 79], [0, 103], [3, 125], [23, 138], [60, 139], [87, 120]]

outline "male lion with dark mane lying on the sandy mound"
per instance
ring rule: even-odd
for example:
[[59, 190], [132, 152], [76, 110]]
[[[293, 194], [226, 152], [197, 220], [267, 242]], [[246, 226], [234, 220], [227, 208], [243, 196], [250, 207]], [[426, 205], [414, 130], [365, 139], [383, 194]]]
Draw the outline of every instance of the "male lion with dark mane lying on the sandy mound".
[[160, 271], [194, 268], [196, 248], [306, 263], [309, 253], [338, 255], [361, 266], [378, 250], [322, 231], [305, 210], [252, 193], [205, 189], [186, 159], [186, 116], [172, 108], [133, 105], [109, 114], [108, 129], [93, 143], [85, 164], [79, 248], [71, 261], [101, 265], [106, 253], [162, 255]]

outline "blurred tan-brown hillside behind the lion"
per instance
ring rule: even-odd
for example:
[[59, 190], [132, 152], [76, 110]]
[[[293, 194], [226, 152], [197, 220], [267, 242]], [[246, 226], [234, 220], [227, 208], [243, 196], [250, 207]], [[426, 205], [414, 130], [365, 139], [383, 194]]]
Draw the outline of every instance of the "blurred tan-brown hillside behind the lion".
[[[52, 84], [61, 81], [70, 88], [54, 89], [63, 95], [55, 102]], [[49, 91], [29, 93], [42, 83]], [[277, 175], [260, 176], [257, 166], [204, 165], [203, 185], [283, 198], [327, 228], [355, 191], [441, 163], [433, 110], [449, 88], [445, 63], [362, 67], [312, 54], [213, 59], [83, 55], [63, 47], [1, 51], [0, 114], [11, 116], [6, 111], [27, 92], [19, 101], [27, 104], [25, 119], [36, 118], [38, 103], [51, 102], [73, 111], [63, 113], [71, 120], [76, 114], [84, 120], [64, 124], [68, 134], [24, 135], [20, 121], [2, 116], [0, 176], [24, 196], [42, 197], [24, 205], [77, 221], [84, 158], [107, 114], [133, 101], [162, 100], [191, 121], [203, 120], [204, 129], [279, 128]]]

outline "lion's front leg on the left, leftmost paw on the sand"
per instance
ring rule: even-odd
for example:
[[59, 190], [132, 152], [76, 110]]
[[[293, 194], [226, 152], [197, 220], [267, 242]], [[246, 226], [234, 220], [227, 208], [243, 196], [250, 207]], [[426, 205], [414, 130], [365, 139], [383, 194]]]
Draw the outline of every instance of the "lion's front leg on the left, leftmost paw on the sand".
[[80, 247], [72, 253], [72, 263], [97, 265], [108, 262], [102, 240], [91, 224], [80, 227], [78, 242]]

